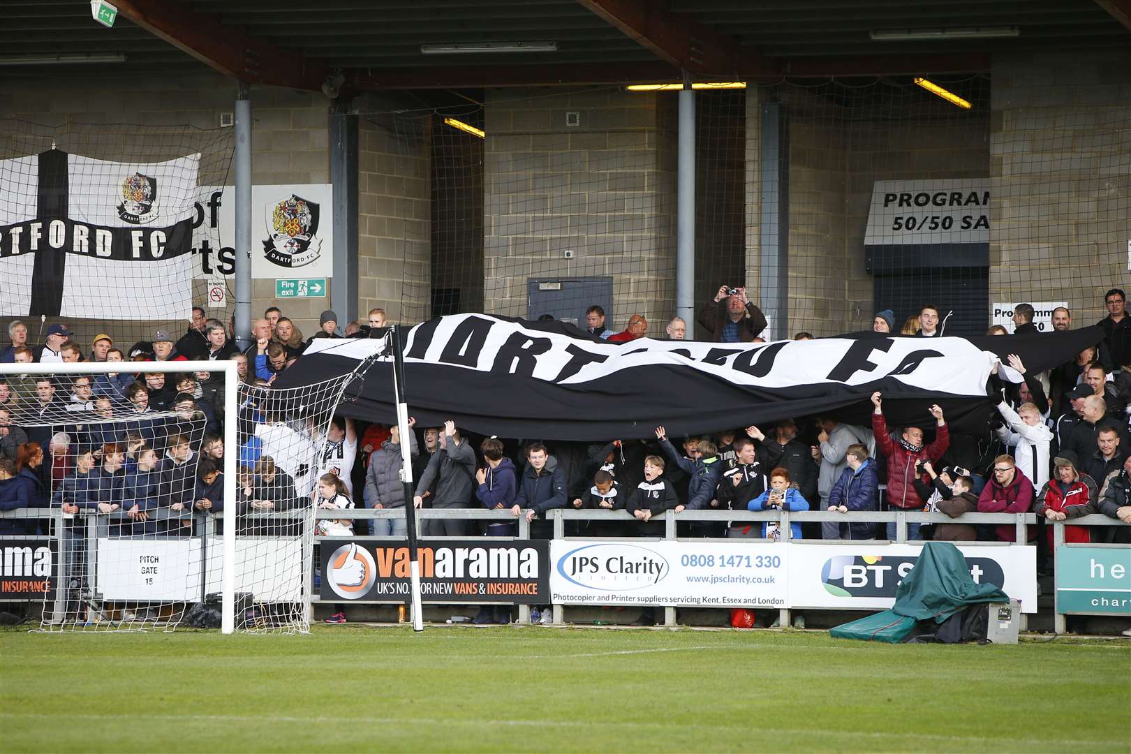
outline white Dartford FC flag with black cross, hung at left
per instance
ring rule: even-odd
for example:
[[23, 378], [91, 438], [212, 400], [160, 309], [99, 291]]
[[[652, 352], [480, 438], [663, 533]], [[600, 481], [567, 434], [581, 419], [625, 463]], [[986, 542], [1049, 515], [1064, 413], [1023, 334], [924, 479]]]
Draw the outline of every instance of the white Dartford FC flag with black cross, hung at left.
[[0, 161], [0, 315], [187, 317], [198, 163]]

